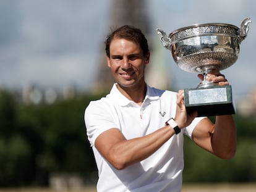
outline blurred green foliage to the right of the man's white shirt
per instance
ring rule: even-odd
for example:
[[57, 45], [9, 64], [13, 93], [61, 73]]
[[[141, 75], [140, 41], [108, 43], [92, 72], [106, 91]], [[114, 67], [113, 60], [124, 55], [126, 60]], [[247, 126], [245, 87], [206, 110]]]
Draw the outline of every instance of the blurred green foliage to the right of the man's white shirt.
[[237, 150], [232, 159], [219, 159], [185, 138], [185, 183], [256, 182], [256, 119], [234, 115], [234, 120]]

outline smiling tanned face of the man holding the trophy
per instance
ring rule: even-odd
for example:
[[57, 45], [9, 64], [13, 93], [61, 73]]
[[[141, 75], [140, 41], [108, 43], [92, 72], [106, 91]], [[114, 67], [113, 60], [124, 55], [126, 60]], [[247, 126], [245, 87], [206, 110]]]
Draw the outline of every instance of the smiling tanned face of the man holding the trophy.
[[145, 66], [149, 62], [150, 54], [143, 56], [139, 44], [115, 38], [111, 41], [109, 52], [108, 67], [120, 86], [127, 88], [144, 83]]

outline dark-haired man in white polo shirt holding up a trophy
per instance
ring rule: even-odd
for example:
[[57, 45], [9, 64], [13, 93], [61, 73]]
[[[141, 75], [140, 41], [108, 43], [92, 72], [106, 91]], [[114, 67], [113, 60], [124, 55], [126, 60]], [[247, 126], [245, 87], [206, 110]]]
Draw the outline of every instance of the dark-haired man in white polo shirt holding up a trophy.
[[[150, 51], [139, 29], [126, 25], [113, 31], [106, 40], [106, 56], [116, 83], [85, 110], [98, 191], [181, 191], [184, 134], [215, 156], [234, 156], [232, 115], [217, 116], [213, 124], [197, 112], [187, 114], [183, 90], [174, 93], [147, 85]], [[208, 80], [228, 85], [218, 71]]]

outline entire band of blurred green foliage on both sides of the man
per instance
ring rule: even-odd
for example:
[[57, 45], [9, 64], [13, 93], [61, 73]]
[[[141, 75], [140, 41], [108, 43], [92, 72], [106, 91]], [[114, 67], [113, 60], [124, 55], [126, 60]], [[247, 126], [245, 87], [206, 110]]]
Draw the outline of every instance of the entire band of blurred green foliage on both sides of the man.
[[[101, 95], [25, 105], [0, 91], [0, 186], [48, 185], [51, 173], [96, 171], [83, 113]], [[184, 183], [256, 182], [256, 120], [235, 115], [237, 153], [223, 160], [184, 140]]]

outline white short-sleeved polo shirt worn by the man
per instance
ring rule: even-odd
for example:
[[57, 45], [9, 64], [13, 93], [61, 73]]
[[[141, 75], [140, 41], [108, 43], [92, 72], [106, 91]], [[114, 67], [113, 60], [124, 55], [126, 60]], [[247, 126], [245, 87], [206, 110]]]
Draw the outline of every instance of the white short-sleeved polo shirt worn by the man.
[[106, 98], [91, 101], [85, 110], [85, 126], [98, 167], [97, 191], [181, 191], [183, 133], [191, 138], [202, 117], [195, 118], [150, 157], [123, 170], [116, 170], [95, 148], [96, 138], [110, 128], [118, 128], [129, 140], [158, 130], [175, 114], [176, 93], [148, 85], [142, 106], [122, 95], [116, 84]]

